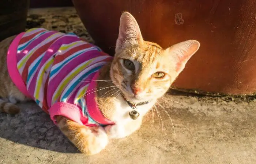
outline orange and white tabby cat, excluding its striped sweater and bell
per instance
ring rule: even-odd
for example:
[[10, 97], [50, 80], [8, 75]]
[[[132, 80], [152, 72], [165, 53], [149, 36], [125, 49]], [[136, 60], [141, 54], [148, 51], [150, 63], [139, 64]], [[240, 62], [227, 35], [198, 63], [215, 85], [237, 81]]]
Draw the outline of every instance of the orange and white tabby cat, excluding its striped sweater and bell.
[[[0, 43], [0, 112], [19, 112], [16, 101], [26, 98], [12, 83], [6, 66], [6, 53], [14, 36]], [[96, 102], [102, 114], [114, 125], [88, 127], [63, 116], [57, 116], [60, 130], [84, 154], [100, 152], [109, 138], [122, 138], [135, 132], [143, 116], [169, 89], [189, 58], [199, 49], [199, 42], [187, 40], [167, 49], [143, 40], [135, 18], [124, 12], [120, 18], [116, 54], [112, 63], [100, 70], [97, 80]], [[147, 102], [147, 103], [142, 103]], [[135, 104], [140, 116], [129, 116]]]

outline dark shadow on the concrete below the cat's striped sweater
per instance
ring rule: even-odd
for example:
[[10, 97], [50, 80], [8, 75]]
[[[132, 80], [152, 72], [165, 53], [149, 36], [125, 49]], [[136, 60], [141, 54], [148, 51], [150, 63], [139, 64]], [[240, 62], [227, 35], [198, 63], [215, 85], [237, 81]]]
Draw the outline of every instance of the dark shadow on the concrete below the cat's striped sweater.
[[12, 116], [0, 113], [0, 137], [15, 143], [50, 151], [79, 153], [34, 102], [19, 104], [22, 112]]

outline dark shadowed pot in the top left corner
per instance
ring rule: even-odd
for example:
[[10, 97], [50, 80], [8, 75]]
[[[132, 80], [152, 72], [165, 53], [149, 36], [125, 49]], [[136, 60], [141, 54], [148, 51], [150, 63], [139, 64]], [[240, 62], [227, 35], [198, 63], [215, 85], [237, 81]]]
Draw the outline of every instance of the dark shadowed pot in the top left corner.
[[25, 30], [29, 0], [3, 0], [0, 5], [0, 40]]

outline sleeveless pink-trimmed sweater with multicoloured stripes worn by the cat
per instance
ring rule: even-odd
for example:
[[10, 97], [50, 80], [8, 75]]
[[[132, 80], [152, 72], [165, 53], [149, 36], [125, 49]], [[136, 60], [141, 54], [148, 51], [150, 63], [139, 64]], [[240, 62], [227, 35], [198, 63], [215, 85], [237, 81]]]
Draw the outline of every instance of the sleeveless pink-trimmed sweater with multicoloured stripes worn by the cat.
[[33, 28], [16, 36], [7, 54], [12, 81], [50, 114], [82, 125], [112, 124], [95, 102], [99, 69], [112, 60], [73, 33]]

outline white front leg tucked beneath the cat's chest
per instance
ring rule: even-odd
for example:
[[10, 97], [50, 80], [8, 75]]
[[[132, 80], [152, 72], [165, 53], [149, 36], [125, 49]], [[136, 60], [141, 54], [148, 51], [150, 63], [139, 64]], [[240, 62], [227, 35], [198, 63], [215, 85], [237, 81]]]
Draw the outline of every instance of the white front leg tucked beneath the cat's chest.
[[105, 127], [105, 131], [109, 138], [124, 138], [138, 130], [141, 124], [142, 118], [139, 118], [137, 120], [127, 122], [126, 124], [117, 123], [115, 125], [108, 125]]

